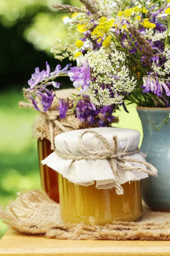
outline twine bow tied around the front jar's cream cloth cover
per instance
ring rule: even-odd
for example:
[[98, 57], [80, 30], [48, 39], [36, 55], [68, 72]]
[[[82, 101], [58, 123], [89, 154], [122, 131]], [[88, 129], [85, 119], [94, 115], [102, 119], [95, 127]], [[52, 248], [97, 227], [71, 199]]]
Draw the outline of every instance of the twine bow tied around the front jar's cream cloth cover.
[[[98, 141], [102, 141], [104, 145], [104, 149], [101, 149], [100, 151], [91, 151], [88, 150], [85, 145], [82, 144], [82, 137], [87, 134], [87, 133], [92, 133], [95, 134], [96, 139]], [[119, 182], [118, 179], [118, 172], [119, 170], [123, 171], [139, 171], [139, 172], [144, 172], [147, 173], [148, 175], [157, 175], [157, 169], [150, 163], [142, 160], [138, 160], [135, 158], [130, 158], [128, 157], [129, 155], [136, 154], [139, 152], [139, 148], [133, 150], [133, 151], [122, 151], [118, 152], [117, 150], [117, 138], [114, 136], [114, 148], [111, 148], [109, 145], [108, 141], [103, 137], [101, 134], [98, 132], [87, 129], [83, 131], [79, 137], [78, 137], [78, 143], [79, 147], [84, 151], [87, 155], [86, 156], [74, 156], [74, 155], [68, 155], [68, 154], [63, 154], [60, 151], [56, 150], [57, 154], [61, 156], [62, 158], [66, 160], [108, 160], [111, 166], [111, 169], [113, 171], [113, 175], [115, 177], [115, 188], [116, 188], [116, 193], [118, 195], [123, 194], [123, 188]], [[133, 163], [141, 163], [142, 165], [146, 166], [147, 169], [144, 169], [142, 167], [137, 167], [137, 166], [129, 166], [127, 165], [126, 162], [133, 162]]]

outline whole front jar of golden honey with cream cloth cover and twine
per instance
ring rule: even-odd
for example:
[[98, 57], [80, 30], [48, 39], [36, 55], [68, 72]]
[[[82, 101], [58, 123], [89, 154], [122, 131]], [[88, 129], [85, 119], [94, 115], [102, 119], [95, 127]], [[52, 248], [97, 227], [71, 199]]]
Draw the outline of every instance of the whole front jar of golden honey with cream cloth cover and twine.
[[[136, 221], [142, 215], [140, 180], [155, 169], [139, 152], [138, 131], [92, 128], [55, 137], [42, 161], [59, 173], [61, 218], [70, 223]], [[153, 172], [153, 173], [152, 173]]]

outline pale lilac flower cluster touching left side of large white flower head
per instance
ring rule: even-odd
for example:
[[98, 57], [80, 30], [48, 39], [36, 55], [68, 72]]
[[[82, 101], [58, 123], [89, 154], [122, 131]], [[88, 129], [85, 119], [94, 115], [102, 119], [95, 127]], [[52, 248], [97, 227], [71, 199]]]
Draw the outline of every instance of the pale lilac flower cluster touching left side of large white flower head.
[[88, 90], [90, 84], [90, 66], [88, 60], [82, 65], [82, 67], [71, 67], [68, 76], [73, 81], [73, 85], [76, 89], [80, 89], [80, 92]]

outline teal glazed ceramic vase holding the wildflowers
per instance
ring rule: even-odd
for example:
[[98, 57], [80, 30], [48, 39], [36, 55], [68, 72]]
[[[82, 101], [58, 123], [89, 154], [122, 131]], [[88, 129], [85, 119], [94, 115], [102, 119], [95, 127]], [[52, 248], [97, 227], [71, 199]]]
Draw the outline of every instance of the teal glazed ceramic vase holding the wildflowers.
[[170, 119], [163, 129], [152, 129], [169, 116], [170, 108], [137, 107], [137, 112], [144, 135], [140, 150], [158, 169], [158, 177], [142, 180], [142, 198], [150, 209], [170, 211]]

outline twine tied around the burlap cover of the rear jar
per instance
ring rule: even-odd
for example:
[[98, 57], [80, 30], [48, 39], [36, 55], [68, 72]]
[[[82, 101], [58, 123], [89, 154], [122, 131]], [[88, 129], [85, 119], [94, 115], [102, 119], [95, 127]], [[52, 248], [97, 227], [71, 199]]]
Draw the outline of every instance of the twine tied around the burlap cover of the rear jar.
[[[19, 106], [22, 108], [34, 108], [34, 105], [27, 102], [19, 102]], [[71, 124], [67, 122], [60, 122], [59, 120], [59, 111], [58, 110], [52, 110], [52, 111], [42, 111], [39, 110], [39, 112], [42, 114], [42, 116], [45, 116], [45, 118], [49, 122], [49, 134], [50, 134], [50, 142], [51, 142], [51, 150], [55, 150], [54, 145], [54, 125], [59, 128], [62, 132], [68, 131], [66, 127], [74, 128]], [[72, 115], [72, 110], [68, 109], [66, 116]]]

